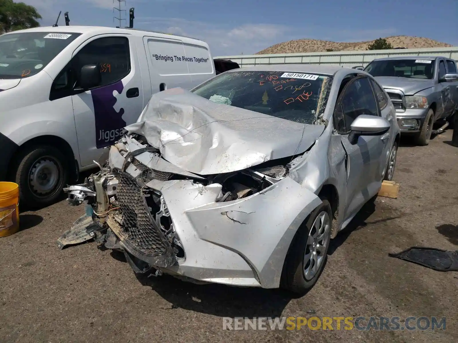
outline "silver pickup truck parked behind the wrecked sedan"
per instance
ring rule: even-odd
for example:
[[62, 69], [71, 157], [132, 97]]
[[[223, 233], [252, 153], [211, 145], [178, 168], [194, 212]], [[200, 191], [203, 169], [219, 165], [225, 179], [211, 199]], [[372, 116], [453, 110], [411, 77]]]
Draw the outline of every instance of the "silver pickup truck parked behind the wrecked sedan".
[[[360, 68], [358, 68], [360, 69]], [[374, 59], [364, 70], [385, 88], [402, 133], [428, 145], [432, 126], [458, 112], [458, 74], [453, 59], [399, 56]]]

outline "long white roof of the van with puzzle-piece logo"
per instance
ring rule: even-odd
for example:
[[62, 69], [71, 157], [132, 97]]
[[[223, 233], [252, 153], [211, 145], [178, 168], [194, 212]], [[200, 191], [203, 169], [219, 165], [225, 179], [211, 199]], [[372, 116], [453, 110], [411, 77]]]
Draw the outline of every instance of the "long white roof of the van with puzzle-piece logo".
[[43, 26], [43, 27], [33, 27], [24, 30], [17, 30], [8, 33], [21, 33], [21, 32], [65, 32], [65, 33], [81, 33], [81, 34], [91, 34], [93, 36], [99, 34], [106, 34], [106, 33], [124, 33], [130, 34], [134, 36], [143, 36], [144, 32], [153, 32], [163, 35], [168, 35], [170, 38], [188, 38], [192, 40], [196, 40], [202, 43], [205, 43], [197, 38], [174, 35], [167, 32], [160, 32], [160, 31], [152, 31], [152, 30], [140, 30], [136, 28], [130, 27], [105, 27], [105, 26]]

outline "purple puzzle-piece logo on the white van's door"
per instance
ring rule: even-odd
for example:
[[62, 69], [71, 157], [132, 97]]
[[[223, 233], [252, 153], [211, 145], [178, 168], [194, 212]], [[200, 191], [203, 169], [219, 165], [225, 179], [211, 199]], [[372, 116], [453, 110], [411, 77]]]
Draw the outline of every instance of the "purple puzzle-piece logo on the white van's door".
[[91, 90], [94, 104], [95, 132], [97, 148], [104, 148], [116, 142], [124, 134], [125, 121], [122, 119], [124, 108], [116, 112], [114, 105], [116, 97], [113, 91], [119, 94], [124, 90], [122, 81], [112, 85]]

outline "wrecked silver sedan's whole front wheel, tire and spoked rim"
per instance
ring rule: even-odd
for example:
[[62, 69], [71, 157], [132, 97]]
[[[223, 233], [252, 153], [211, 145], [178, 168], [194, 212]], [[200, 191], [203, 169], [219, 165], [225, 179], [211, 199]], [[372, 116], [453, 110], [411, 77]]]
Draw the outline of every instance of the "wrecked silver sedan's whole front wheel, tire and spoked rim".
[[326, 198], [298, 229], [285, 259], [282, 287], [304, 295], [316, 283], [331, 239], [331, 204]]

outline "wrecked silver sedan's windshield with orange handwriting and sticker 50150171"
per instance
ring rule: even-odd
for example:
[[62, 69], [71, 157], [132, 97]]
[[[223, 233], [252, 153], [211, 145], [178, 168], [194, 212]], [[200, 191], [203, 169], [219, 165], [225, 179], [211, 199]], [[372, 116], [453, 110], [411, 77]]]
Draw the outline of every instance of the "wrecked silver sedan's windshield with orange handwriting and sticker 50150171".
[[328, 75], [287, 71], [235, 71], [221, 74], [191, 92], [213, 102], [316, 124], [326, 107]]

